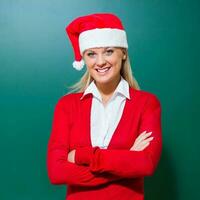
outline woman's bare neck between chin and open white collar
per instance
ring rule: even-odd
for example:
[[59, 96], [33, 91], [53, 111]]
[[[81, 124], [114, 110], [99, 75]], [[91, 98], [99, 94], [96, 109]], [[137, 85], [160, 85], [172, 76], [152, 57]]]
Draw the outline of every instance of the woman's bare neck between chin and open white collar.
[[110, 81], [109, 83], [105, 83], [105, 84], [96, 82], [96, 86], [102, 96], [109, 96], [113, 94], [120, 80], [121, 80], [121, 76], [116, 78], [114, 81]]

